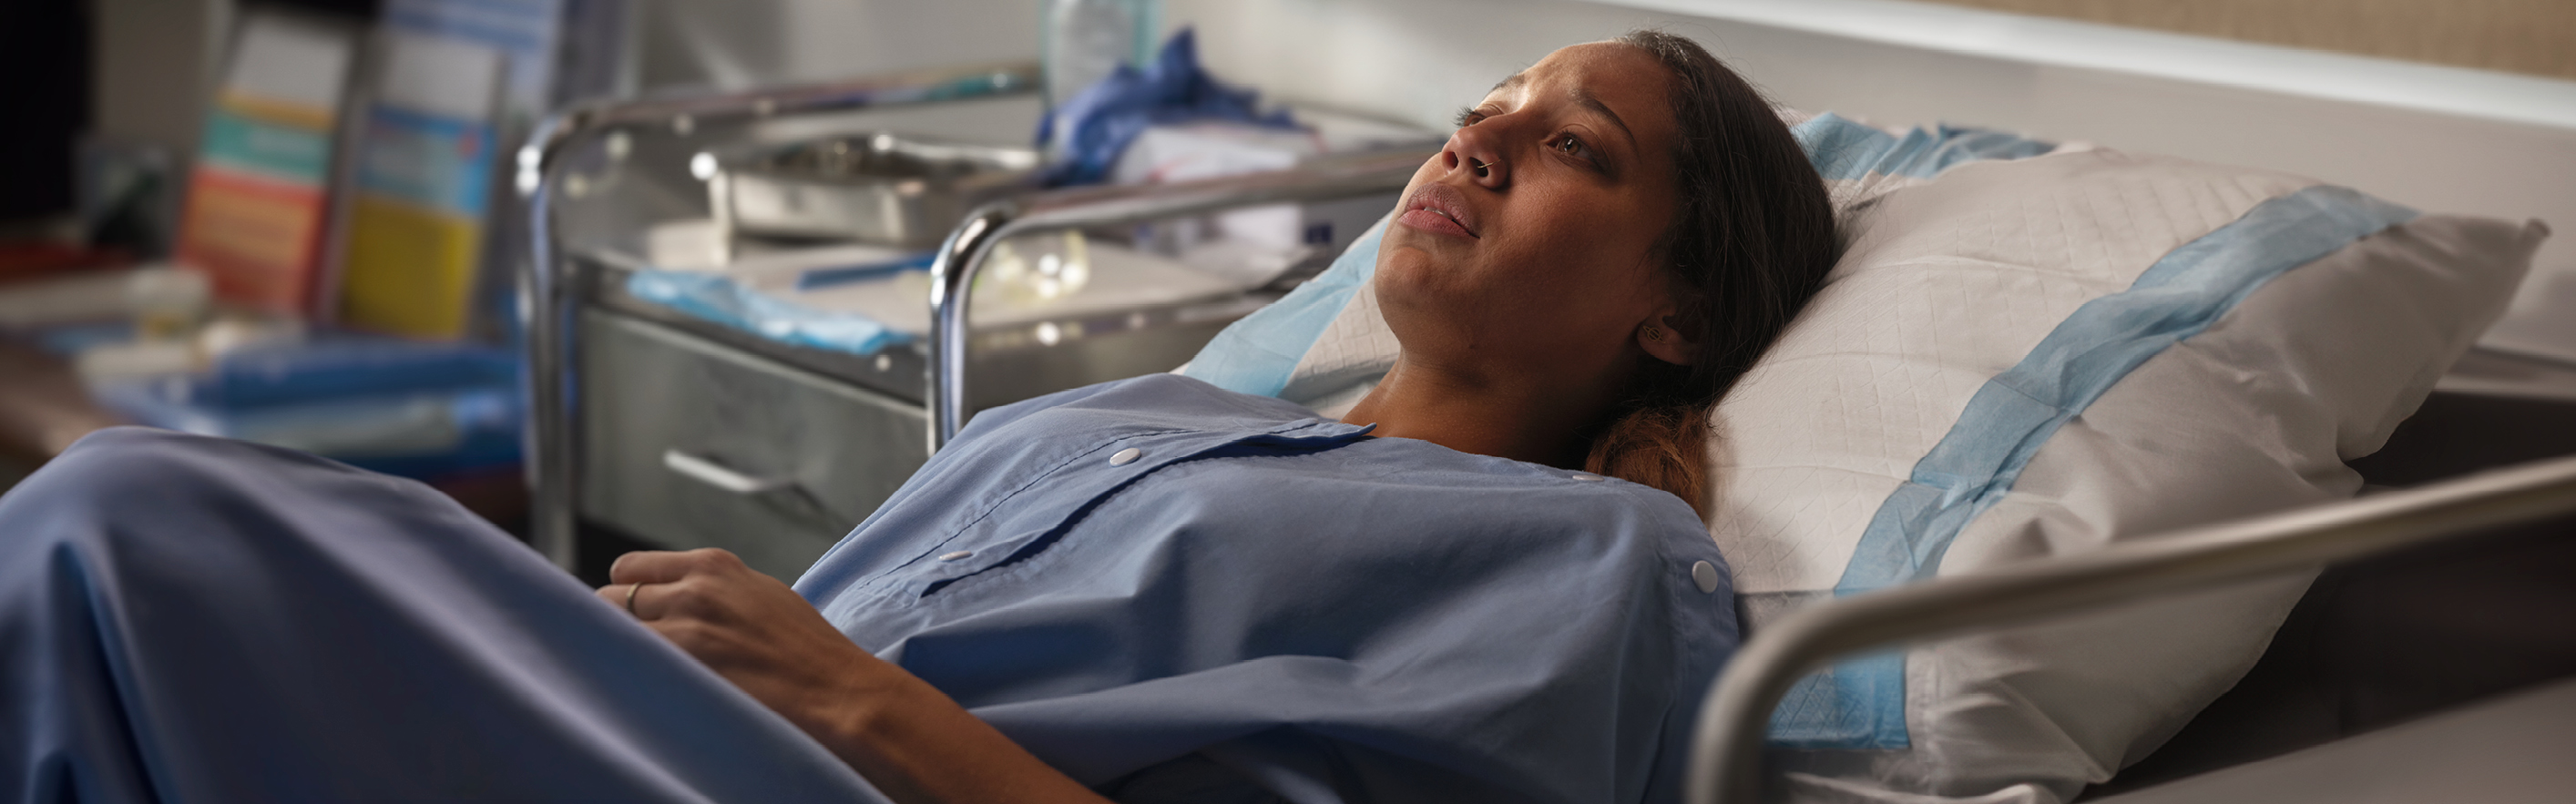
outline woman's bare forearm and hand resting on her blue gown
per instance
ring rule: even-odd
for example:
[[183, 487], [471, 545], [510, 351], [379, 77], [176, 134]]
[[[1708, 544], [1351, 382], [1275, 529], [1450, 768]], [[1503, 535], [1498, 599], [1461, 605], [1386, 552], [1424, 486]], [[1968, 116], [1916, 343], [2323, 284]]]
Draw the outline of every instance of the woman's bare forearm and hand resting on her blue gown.
[[636, 551], [608, 580], [603, 600], [631, 608], [896, 801], [1108, 801], [729, 551]]

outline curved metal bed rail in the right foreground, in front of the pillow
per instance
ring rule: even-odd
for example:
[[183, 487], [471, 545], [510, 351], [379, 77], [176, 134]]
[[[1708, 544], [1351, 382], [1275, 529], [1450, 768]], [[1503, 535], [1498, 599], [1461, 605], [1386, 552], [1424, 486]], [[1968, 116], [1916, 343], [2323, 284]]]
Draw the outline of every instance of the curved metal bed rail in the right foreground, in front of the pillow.
[[1687, 799], [1759, 801], [1772, 709], [1798, 678], [1842, 655], [2311, 570], [2561, 513], [2576, 513], [2576, 456], [1819, 603], [1754, 634], [1710, 685], [1692, 737]]

